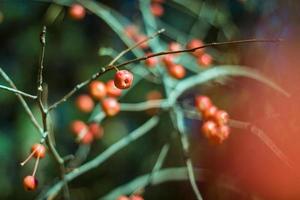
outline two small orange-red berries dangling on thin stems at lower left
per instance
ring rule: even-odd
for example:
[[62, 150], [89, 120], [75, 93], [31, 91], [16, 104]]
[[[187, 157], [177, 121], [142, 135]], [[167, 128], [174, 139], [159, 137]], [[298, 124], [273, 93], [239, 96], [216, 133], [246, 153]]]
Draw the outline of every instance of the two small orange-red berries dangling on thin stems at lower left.
[[38, 186], [38, 180], [35, 178], [35, 173], [39, 164], [39, 160], [46, 155], [46, 148], [42, 144], [34, 144], [31, 147], [31, 154], [21, 163], [21, 166], [25, 165], [32, 157], [36, 159], [34, 170], [32, 175], [28, 175], [23, 179], [23, 186], [26, 190], [35, 190]]

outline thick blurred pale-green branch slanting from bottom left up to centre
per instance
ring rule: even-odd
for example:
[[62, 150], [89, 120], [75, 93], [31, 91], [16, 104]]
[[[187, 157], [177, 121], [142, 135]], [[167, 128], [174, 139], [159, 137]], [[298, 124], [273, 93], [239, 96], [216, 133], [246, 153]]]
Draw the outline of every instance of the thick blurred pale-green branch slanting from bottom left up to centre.
[[[111, 145], [108, 149], [106, 149], [103, 153], [95, 157], [93, 160], [85, 163], [84, 165], [78, 167], [74, 171], [70, 172], [65, 176], [65, 180], [67, 182], [72, 181], [73, 179], [77, 178], [78, 176], [100, 166], [118, 151], [123, 149], [124, 147], [131, 144], [133, 141], [137, 140], [138, 138], [145, 135], [148, 131], [154, 128], [159, 122], [159, 118], [157, 116], [152, 117], [139, 128], [135, 129], [132, 133], [128, 134], [126, 137], [122, 138], [115, 144]], [[54, 198], [58, 192], [63, 187], [63, 181], [58, 181], [55, 185], [53, 185], [46, 193], [42, 193], [38, 199], [51, 199]]]

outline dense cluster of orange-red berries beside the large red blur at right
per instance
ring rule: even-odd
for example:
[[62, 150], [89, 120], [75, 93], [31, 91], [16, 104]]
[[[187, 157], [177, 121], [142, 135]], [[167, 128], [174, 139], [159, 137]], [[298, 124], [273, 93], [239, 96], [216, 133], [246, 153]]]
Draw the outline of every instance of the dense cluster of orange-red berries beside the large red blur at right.
[[229, 136], [229, 115], [224, 110], [219, 110], [207, 96], [196, 97], [196, 108], [202, 114], [203, 135], [214, 144], [221, 144]]

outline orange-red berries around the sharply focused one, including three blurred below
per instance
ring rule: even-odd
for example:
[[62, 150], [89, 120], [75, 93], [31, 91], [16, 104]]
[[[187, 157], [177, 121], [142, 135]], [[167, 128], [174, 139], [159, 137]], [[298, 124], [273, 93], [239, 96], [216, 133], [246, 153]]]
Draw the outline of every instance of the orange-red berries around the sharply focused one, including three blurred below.
[[[127, 89], [133, 82], [133, 75], [127, 70], [118, 70], [114, 80], [107, 83], [95, 80], [89, 85], [89, 95], [83, 94], [77, 97], [76, 106], [82, 111], [89, 113], [93, 110], [94, 100], [100, 101], [106, 116], [114, 116], [120, 111], [120, 104], [117, 100], [122, 94], [122, 89]], [[71, 123], [71, 131], [77, 141], [83, 144], [90, 144], [93, 139], [100, 139], [103, 136], [103, 128], [98, 123], [87, 125], [83, 121], [75, 120]]]

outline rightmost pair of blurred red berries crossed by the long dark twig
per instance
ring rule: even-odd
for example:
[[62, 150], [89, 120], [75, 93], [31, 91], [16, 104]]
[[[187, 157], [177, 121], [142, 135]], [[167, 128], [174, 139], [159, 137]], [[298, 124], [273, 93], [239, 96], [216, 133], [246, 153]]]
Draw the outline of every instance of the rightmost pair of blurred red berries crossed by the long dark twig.
[[[193, 49], [196, 47], [203, 46], [204, 43], [199, 39], [192, 39], [188, 44], [188, 49]], [[210, 54], [206, 53], [204, 48], [203, 49], [197, 49], [192, 53], [195, 58], [197, 59], [197, 63], [201, 66], [208, 67], [212, 64], [213, 58]]]

